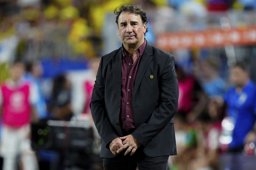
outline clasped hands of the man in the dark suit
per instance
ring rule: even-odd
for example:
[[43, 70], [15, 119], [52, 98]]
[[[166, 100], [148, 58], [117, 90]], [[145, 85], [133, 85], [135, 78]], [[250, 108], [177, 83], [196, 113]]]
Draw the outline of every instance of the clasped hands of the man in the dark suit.
[[126, 149], [124, 156], [126, 156], [128, 153], [130, 153], [132, 156], [140, 145], [140, 142], [132, 135], [127, 135], [124, 137], [117, 137], [116, 139], [112, 140], [112, 142], [109, 144], [109, 149], [114, 155], [121, 153]]

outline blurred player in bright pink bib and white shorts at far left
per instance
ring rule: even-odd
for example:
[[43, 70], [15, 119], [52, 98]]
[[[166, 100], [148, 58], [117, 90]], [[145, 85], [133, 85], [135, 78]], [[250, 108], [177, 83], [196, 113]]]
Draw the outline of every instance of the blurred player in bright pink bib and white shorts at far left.
[[3, 169], [13, 170], [20, 156], [23, 169], [38, 169], [35, 152], [30, 146], [30, 121], [37, 120], [33, 105], [38, 100], [35, 85], [23, 79], [24, 64], [15, 62], [10, 69], [10, 79], [1, 86], [3, 129], [1, 152]]

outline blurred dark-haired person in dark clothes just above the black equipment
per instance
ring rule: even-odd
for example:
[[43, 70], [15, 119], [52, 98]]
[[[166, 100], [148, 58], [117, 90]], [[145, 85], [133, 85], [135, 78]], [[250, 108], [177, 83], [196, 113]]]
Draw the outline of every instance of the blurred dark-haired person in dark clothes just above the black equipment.
[[73, 116], [71, 110], [71, 83], [64, 74], [53, 80], [51, 105], [53, 118], [68, 121]]

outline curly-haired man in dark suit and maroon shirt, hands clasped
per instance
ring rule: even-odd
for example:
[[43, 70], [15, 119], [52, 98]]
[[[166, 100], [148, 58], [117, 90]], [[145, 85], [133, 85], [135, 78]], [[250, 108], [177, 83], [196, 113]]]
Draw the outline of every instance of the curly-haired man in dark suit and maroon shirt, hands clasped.
[[176, 155], [179, 97], [174, 57], [145, 39], [146, 13], [116, 8], [122, 47], [101, 58], [90, 103], [105, 170], [164, 170]]

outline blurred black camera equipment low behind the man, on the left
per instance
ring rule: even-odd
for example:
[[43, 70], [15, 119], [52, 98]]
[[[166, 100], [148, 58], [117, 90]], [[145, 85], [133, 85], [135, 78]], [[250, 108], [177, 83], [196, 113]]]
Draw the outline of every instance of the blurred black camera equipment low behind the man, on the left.
[[93, 131], [86, 120], [41, 120], [31, 123], [34, 150], [84, 150], [92, 152]]

